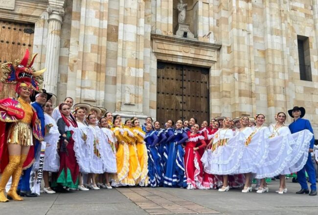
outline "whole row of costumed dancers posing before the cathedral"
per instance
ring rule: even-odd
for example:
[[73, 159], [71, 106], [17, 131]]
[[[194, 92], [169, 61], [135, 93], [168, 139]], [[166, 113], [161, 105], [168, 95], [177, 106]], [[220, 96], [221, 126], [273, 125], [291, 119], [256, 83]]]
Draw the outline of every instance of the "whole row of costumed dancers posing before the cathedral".
[[297, 193], [308, 194], [305, 171], [309, 195], [317, 195], [310, 159], [313, 130], [302, 118], [302, 107], [288, 111], [294, 118], [289, 127], [284, 112], [269, 127], [263, 114], [216, 117], [200, 124], [195, 118], [169, 119], [164, 128], [147, 117], [140, 125], [136, 117], [123, 121], [100, 107], [73, 106], [69, 97], [53, 108], [56, 96], [40, 88], [45, 70], [34, 71], [34, 58], [27, 64], [28, 57], [26, 52], [21, 61], [1, 66], [0, 90], [12, 90], [18, 98], [0, 100], [0, 202], [38, 196], [42, 179], [42, 191], [53, 194], [112, 186], [220, 192], [242, 187], [242, 193], [249, 193], [251, 180], [257, 178], [256, 192], [262, 194], [269, 190], [265, 178], [279, 176], [277, 193], [284, 194], [285, 175], [294, 172], [301, 184]]

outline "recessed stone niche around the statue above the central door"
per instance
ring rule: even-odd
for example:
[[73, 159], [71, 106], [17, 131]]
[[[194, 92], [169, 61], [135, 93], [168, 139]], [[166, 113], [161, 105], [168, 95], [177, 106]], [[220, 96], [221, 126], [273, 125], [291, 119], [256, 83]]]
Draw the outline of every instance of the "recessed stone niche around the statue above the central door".
[[[177, 5], [179, 0], [173, 0], [173, 30], [174, 35], [178, 31], [178, 15], [179, 11]], [[185, 12], [184, 24], [189, 25], [189, 31], [194, 35], [194, 38], [198, 38], [198, 0], [183, 0], [183, 3], [187, 4]]]

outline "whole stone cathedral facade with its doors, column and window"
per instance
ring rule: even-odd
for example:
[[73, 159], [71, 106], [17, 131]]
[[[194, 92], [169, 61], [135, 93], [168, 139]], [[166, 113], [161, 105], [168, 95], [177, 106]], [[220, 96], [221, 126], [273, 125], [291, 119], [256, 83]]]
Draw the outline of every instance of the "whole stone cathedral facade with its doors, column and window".
[[38, 53], [58, 102], [162, 120], [264, 113], [268, 123], [303, 106], [318, 135], [318, 0], [183, 0], [185, 30], [178, 3], [0, 0], [0, 60]]

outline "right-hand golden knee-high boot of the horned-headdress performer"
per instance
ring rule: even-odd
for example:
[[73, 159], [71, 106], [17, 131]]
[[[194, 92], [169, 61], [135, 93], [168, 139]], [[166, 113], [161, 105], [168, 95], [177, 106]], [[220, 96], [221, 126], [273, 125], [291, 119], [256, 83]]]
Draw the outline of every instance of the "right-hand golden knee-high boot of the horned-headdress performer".
[[20, 159], [20, 163], [16, 169], [16, 171], [13, 172], [12, 174], [12, 184], [11, 184], [11, 188], [7, 194], [7, 197], [9, 199], [13, 199], [13, 200], [16, 200], [16, 201], [22, 201], [23, 198], [17, 194], [17, 187], [18, 187], [18, 184], [19, 184], [19, 180], [20, 180], [20, 177], [21, 177], [21, 174], [22, 174], [22, 168], [23, 168], [23, 163], [26, 159], [26, 156], [27, 155], [21, 155], [21, 159]]

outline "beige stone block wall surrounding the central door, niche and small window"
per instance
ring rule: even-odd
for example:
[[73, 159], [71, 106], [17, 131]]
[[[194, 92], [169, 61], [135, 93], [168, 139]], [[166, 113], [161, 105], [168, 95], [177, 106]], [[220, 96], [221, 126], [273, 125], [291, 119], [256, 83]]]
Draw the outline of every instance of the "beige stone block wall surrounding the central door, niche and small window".
[[[16, 0], [9, 15], [0, 9], [0, 19], [35, 23], [36, 68], [45, 66], [49, 2]], [[318, 132], [317, 0], [189, 0], [194, 40], [174, 36], [176, 0], [64, 2], [58, 102], [70, 96], [155, 118], [157, 61], [201, 63], [210, 68], [210, 117], [264, 113], [273, 123], [275, 113], [297, 105]], [[308, 37], [312, 81], [300, 80], [297, 35]], [[158, 51], [159, 40], [181, 48]]]

